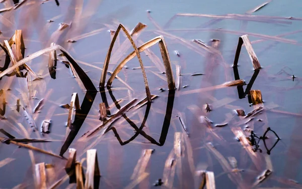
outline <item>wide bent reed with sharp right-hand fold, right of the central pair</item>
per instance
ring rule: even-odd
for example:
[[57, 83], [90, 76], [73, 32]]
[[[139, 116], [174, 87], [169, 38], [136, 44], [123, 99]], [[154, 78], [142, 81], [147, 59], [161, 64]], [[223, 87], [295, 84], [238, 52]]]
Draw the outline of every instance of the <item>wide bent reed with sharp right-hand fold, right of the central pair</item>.
[[[172, 68], [171, 68], [170, 56], [169, 56], [169, 52], [168, 52], [167, 45], [166, 45], [166, 42], [164, 40], [164, 37], [162, 35], [160, 35], [158, 37], [155, 37], [155, 38], [143, 43], [137, 49], [138, 49], [139, 52], [143, 52], [144, 50], [146, 50], [149, 47], [152, 47], [156, 43], [159, 43], [161, 54], [162, 54], [162, 57], [163, 57], [163, 62], [164, 62], [164, 66], [165, 66], [165, 70], [166, 70], [166, 76], [167, 76], [167, 82], [168, 82], [168, 88], [169, 88], [169, 90], [175, 90], [175, 82], [174, 82], [173, 72], [172, 72]], [[126, 65], [126, 63], [128, 61], [130, 61], [132, 58], [135, 57], [135, 54], [136, 54], [136, 52], [132, 51], [130, 54], [128, 54], [128, 56], [126, 56], [120, 62], [120, 64], [116, 67], [116, 69], [112, 73], [111, 77], [107, 81], [107, 86], [111, 86], [114, 78], [122, 70], [122, 68]], [[105, 66], [105, 64], [104, 64], [104, 66]], [[103, 72], [104, 72], [104, 69], [103, 69]], [[104, 81], [105, 81], [105, 79], [104, 79]]]

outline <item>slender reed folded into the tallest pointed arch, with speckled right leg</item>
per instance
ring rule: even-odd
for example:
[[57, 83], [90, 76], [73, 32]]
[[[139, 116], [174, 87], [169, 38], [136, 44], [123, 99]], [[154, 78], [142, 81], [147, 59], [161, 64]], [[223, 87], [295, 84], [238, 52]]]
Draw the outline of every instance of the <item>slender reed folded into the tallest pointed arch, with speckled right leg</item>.
[[115, 42], [115, 40], [116, 40], [116, 38], [117, 38], [117, 36], [118, 36], [121, 29], [124, 31], [127, 38], [131, 42], [132, 47], [134, 48], [134, 51], [136, 53], [136, 56], [138, 58], [139, 65], [140, 65], [140, 68], [141, 68], [147, 99], [148, 99], [149, 102], [151, 102], [151, 93], [150, 93], [150, 89], [149, 89], [149, 85], [148, 85], [148, 81], [147, 81], [147, 76], [146, 76], [146, 73], [145, 73], [145, 70], [144, 70], [144, 67], [143, 67], [143, 64], [142, 64], [142, 60], [141, 60], [141, 57], [140, 57], [140, 53], [139, 53], [132, 37], [130, 36], [130, 34], [128, 33], [128, 31], [125, 29], [125, 27], [122, 24], [120, 24], [118, 26], [118, 28], [116, 29], [116, 32], [115, 32], [115, 34], [113, 36], [113, 39], [111, 41], [111, 44], [109, 46], [109, 49], [108, 49], [108, 52], [107, 52], [107, 55], [106, 55], [106, 58], [105, 58], [105, 61], [104, 61], [104, 67], [103, 67], [102, 76], [101, 76], [101, 80], [100, 80], [100, 87], [101, 88], [105, 87], [105, 80], [106, 80], [106, 75], [107, 75], [107, 70], [108, 70], [108, 66], [109, 66], [111, 52], [112, 52], [112, 49], [113, 49], [114, 42]]

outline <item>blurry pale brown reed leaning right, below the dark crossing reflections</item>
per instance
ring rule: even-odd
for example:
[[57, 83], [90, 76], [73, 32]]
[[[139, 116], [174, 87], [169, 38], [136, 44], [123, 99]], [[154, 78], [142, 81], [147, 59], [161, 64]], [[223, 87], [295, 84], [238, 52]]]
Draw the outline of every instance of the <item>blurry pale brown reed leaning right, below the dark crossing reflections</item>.
[[131, 180], [139, 177], [139, 175], [146, 172], [146, 167], [148, 165], [148, 162], [150, 160], [151, 154], [154, 152], [154, 149], [146, 149], [143, 150], [140, 158], [137, 161], [137, 164], [133, 170], [133, 173], [130, 177]]

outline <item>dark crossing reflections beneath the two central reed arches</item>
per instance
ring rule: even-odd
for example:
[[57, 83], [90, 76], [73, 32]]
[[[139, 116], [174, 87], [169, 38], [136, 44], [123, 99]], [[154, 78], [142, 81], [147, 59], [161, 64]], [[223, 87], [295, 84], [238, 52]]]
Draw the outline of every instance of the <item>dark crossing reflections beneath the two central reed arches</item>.
[[[120, 109], [121, 106], [116, 101], [116, 99], [113, 96], [113, 93], [110, 90], [110, 88], [108, 88], [108, 91], [109, 91], [110, 97], [112, 98], [112, 100], [115, 103], [116, 107], [118, 109]], [[103, 93], [103, 96], [106, 97], [105, 93]], [[118, 142], [122, 146], [130, 143], [131, 141], [133, 141], [138, 135], [143, 136], [145, 139], [147, 139], [152, 144], [155, 144], [155, 145], [158, 145], [158, 146], [163, 146], [165, 144], [165, 142], [166, 142], [166, 138], [167, 138], [169, 127], [170, 127], [170, 122], [171, 122], [171, 117], [172, 117], [172, 110], [173, 110], [173, 104], [174, 104], [174, 98], [175, 98], [175, 91], [174, 90], [169, 91], [167, 108], [166, 108], [166, 114], [165, 114], [164, 123], [163, 123], [162, 132], [161, 132], [161, 136], [160, 136], [159, 142], [157, 142], [155, 139], [153, 139], [152, 137], [150, 137], [149, 135], [147, 135], [144, 131], [142, 131], [142, 129], [145, 127], [145, 122], [147, 120], [147, 117], [148, 117], [148, 114], [149, 114], [149, 111], [150, 111], [150, 108], [151, 108], [151, 103], [150, 102], [148, 102], [146, 104], [146, 110], [145, 110], [144, 118], [143, 118], [143, 120], [142, 120], [141, 125], [140, 125], [139, 128], [125, 114], [122, 115], [122, 117], [130, 124], [130, 126], [136, 132], [129, 140], [123, 142], [121, 140], [121, 138], [119, 137], [118, 132], [115, 129], [115, 127], [111, 127], [108, 131], [110, 131], [110, 130], [113, 131], [116, 139], [118, 140]], [[106, 99], [106, 101], [107, 101], [107, 99]], [[103, 101], [103, 102], [105, 102], [105, 101]]]

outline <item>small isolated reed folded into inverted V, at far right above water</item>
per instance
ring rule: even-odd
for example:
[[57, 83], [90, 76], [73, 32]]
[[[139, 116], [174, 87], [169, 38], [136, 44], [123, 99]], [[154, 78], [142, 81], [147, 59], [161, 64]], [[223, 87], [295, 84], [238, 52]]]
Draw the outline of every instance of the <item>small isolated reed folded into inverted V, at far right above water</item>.
[[255, 51], [252, 47], [252, 43], [251, 43], [248, 35], [243, 35], [243, 36], [239, 37], [233, 67], [238, 66], [238, 60], [239, 60], [240, 51], [241, 51], [241, 47], [242, 47], [243, 43], [248, 51], [248, 54], [252, 61], [254, 70], [260, 69], [261, 66], [260, 66], [259, 60], [257, 58], [257, 55], [255, 54]]

